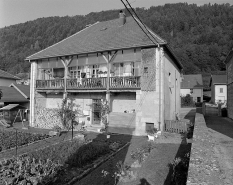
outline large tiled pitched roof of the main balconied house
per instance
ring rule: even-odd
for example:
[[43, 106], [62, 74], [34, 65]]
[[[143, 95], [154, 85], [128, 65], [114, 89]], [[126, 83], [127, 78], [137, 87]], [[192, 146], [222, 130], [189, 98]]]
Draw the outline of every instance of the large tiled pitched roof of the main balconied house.
[[[119, 21], [120, 19], [97, 22], [64, 40], [27, 57], [26, 60], [155, 45], [141, 30], [133, 17], [127, 17], [126, 23], [123, 26], [119, 26]], [[151, 37], [151, 39], [156, 44], [166, 44], [166, 41], [156, 34], [154, 34], [154, 38]]]

